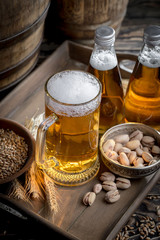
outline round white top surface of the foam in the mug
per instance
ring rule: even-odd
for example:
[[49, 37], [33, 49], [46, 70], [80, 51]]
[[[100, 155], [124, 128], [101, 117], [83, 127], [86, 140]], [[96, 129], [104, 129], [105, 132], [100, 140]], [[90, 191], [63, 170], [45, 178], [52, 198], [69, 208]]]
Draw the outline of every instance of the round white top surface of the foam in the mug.
[[88, 73], [64, 71], [50, 79], [47, 90], [59, 102], [81, 104], [94, 99], [100, 87], [97, 80]]

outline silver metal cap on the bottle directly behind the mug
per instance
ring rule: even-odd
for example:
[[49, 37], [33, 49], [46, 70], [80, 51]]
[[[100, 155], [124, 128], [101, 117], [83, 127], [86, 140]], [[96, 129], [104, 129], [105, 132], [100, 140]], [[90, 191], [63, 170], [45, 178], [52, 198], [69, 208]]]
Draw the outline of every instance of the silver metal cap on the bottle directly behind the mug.
[[108, 26], [98, 27], [94, 41], [100, 46], [112, 45], [115, 42], [115, 30]]

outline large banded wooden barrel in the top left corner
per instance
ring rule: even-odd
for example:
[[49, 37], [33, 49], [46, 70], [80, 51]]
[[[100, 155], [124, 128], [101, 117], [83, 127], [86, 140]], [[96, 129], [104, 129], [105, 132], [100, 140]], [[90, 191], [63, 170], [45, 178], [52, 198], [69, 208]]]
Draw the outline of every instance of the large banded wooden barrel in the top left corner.
[[50, 0], [0, 1], [0, 91], [35, 66]]

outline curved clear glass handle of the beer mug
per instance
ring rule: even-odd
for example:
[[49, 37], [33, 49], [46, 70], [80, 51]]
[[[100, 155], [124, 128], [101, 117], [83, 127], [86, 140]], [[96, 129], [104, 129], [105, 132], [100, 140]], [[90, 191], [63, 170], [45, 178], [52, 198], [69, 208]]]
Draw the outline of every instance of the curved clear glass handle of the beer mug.
[[43, 151], [45, 146], [45, 136], [47, 129], [58, 120], [56, 114], [50, 115], [39, 125], [36, 137], [35, 160], [40, 168], [43, 169]]

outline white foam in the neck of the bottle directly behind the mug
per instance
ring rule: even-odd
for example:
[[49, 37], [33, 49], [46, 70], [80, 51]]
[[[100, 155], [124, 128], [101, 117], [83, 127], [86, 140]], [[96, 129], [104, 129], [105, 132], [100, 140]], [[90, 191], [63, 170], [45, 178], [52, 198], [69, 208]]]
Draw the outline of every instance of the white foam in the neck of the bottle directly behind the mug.
[[96, 50], [91, 55], [90, 64], [94, 69], [106, 71], [117, 66], [117, 58], [115, 53], [109, 50]]

